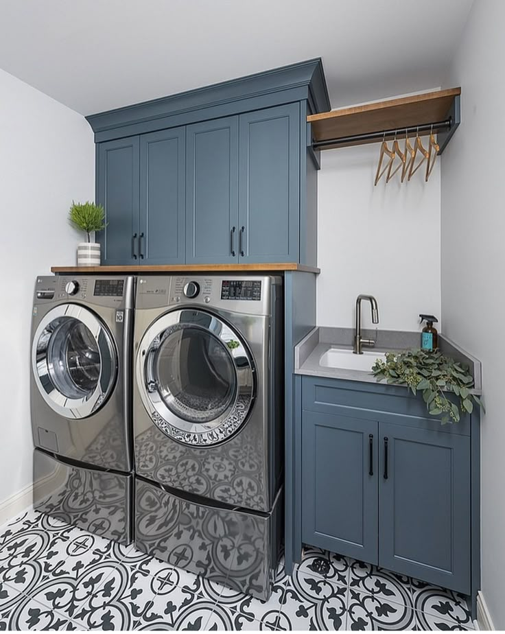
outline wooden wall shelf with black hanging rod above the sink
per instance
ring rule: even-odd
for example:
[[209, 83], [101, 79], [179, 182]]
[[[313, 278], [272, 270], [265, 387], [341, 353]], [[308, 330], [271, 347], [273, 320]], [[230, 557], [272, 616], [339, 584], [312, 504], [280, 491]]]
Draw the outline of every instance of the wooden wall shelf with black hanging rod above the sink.
[[[398, 130], [399, 137], [402, 134], [404, 137], [406, 128], [414, 128], [408, 132], [412, 137], [416, 134], [416, 126], [450, 120], [448, 126], [433, 127], [433, 131], [438, 132], [441, 154], [460, 123], [460, 95], [460, 88], [451, 88], [309, 115], [307, 121], [312, 126], [313, 145], [321, 150], [330, 150], [377, 143], [382, 141], [384, 131], [392, 131], [392, 134], [386, 134], [387, 141], [394, 138], [395, 130]], [[374, 138], [364, 138], [374, 134]]]

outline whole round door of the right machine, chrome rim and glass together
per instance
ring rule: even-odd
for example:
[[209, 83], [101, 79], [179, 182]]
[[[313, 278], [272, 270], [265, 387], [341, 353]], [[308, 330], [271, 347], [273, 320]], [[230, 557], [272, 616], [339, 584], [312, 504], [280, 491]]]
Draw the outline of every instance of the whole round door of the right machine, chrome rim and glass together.
[[253, 360], [242, 338], [200, 310], [165, 314], [146, 331], [137, 381], [154, 423], [191, 445], [234, 434], [254, 398]]

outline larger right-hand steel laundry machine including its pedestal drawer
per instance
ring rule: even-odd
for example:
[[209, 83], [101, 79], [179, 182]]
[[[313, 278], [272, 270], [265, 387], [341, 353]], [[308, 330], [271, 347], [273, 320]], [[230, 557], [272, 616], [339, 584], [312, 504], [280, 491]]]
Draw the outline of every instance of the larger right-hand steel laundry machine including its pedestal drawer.
[[282, 325], [279, 277], [137, 284], [137, 547], [263, 599], [281, 539]]

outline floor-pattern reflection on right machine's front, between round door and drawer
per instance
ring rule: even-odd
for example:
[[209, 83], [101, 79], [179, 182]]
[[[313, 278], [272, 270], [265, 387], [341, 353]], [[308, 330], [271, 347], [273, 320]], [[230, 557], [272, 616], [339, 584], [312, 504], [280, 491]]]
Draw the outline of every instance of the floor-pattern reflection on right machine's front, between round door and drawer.
[[163, 432], [150, 427], [135, 438], [135, 452], [143, 478], [233, 506], [266, 508], [261, 452], [247, 428], [210, 451], [167, 442]]

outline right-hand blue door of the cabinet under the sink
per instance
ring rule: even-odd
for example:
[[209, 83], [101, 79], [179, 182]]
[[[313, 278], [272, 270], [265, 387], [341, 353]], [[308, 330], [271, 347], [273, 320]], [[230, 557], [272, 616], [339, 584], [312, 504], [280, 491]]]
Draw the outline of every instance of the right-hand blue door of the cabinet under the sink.
[[469, 437], [379, 427], [379, 565], [470, 594]]

